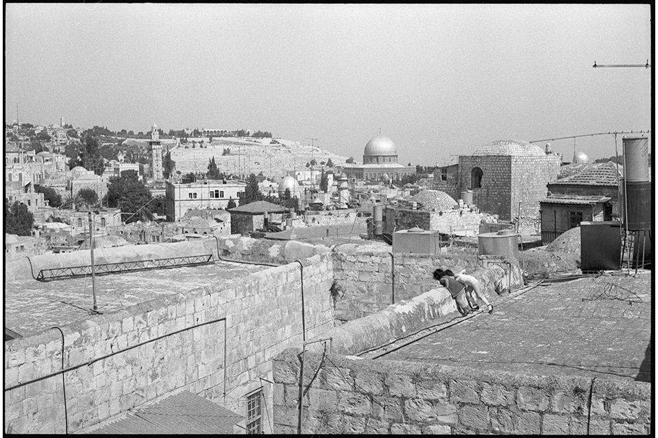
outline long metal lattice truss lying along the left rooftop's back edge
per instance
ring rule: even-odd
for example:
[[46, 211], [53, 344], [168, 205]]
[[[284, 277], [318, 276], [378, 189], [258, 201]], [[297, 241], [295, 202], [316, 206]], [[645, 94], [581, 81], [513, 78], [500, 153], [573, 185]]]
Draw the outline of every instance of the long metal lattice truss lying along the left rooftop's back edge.
[[[119, 263], [101, 263], [93, 268], [95, 275], [117, 274], [151, 269], [182, 268], [184, 266], [200, 266], [215, 263], [212, 254], [193, 255], [188, 257], [171, 257], [168, 259], [151, 259], [138, 261], [121, 261]], [[72, 266], [67, 268], [42, 269], [36, 279], [38, 281], [52, 281], [74, 279], [92, 274], [92, 266]]]

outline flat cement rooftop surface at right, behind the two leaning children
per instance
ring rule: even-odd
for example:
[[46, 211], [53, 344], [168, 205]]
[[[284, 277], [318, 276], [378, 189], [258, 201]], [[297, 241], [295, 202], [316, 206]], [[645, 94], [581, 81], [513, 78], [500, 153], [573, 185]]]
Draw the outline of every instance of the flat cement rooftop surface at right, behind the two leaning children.
[[378, 360], [650, 381], [651, 292], [650, 271], [539, 285]]

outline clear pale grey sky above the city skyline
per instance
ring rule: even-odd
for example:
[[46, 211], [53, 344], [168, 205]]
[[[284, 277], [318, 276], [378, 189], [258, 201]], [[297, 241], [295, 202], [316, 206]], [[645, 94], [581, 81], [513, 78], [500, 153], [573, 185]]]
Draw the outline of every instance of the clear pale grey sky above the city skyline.
[[[260, 129], [357, 161], [381, 131], [402, 164], [454, 164], [496, 140], [649, 130], [652, 68], [592, 66], [653, 64], [650, 18], [648, 4], [5, 3], [4, 118]], [[609, 135], [551, 145], [615, 155]]]

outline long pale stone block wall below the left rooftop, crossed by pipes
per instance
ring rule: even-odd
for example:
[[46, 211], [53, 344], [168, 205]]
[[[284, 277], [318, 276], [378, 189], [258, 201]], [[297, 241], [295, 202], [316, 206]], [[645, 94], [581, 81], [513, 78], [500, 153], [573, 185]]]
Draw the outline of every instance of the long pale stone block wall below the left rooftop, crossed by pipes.
[[[219, 249], [238, 259], [256, 250], [249, 241], [226, 239]], [[270, 261], [302, 259], [307, 339], [333, 325], [332, 259], [327, 248], [315, 248], [287, 242], [266, 251]], [[62, 326], [69, 432], [178, 389], [245, 415], [245, 395], [261, 386], [268, 430], [272, 388], [261, 379], [272, 381], [273, 357], [302, 342], [301, 271], [298, 263], [267, 268]], [[59, 331], [5, 342], [4, 365], [5, 430], [64, 433], [62, 374], [53, 374], [62, 370]]]

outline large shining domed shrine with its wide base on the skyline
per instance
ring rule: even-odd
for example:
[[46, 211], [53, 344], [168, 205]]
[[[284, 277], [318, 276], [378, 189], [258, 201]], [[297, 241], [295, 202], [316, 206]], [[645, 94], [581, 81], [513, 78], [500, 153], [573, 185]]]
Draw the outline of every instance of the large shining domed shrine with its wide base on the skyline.
[[406, 175], [415, 175], [414, 166], [398, 164], [398, 149], [386, 136], [375, 136], [365, 144], [363, 164], [343, 169], [352, 181], [380, 181], [382, 177], [398, 181]]

